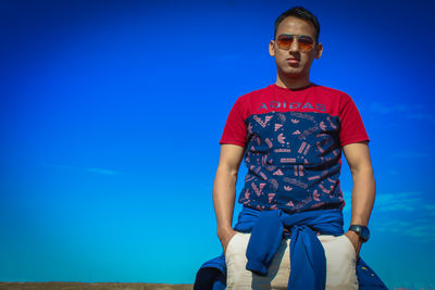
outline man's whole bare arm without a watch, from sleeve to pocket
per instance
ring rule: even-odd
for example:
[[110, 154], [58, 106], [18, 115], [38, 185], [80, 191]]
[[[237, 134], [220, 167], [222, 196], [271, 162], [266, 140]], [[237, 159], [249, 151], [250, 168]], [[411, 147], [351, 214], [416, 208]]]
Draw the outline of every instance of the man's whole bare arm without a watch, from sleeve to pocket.
[[217, 237], [222, 249], [236, 234], [232, 228], [234, 201], [236, 198], [237, 173], [245, 148], [236, 144], [222, 144], [216, 176], [213, 184], [213, 204], [217, 220]]

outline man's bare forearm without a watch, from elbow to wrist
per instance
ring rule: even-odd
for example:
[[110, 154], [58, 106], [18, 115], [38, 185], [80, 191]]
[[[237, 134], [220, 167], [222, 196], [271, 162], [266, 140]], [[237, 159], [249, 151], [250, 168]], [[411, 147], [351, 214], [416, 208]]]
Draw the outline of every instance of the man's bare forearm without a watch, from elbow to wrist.
[[217, 235], [232, 228], [236, 197], [237, 172], [217, 168], [213, 184], [213, 204], [217, 222]]

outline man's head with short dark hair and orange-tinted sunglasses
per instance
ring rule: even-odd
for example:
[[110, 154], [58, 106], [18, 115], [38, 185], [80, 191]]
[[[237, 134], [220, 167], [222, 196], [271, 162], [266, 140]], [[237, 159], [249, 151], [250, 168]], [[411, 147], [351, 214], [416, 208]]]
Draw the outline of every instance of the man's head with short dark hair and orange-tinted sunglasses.
[[318, 18], [303, 8], [293, 8], [277, 17], [269, 52], [275, 58], [278, 77], [309, 79], [312, 61], [323, 51], [319, 33]]

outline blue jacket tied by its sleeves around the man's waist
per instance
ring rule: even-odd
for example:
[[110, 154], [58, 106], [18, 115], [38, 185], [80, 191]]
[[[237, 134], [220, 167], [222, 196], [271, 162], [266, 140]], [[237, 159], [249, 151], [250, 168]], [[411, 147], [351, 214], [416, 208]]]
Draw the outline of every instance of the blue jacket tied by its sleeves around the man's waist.
[[[316, 232], [340, 236], [343, 230], [340, 210], [318, 210], [287, 214], [281, 210], [257, 211], [244, 206], [234, 227], [240, 232], [251, 232], [247, 248], [246, 268], [258, 275], [266, 275], [278, 250], [283, 235], [290, 238], [290, 277], [287, 289], [320, 290], [326, 285], [326, 259]], [[284, 232], [284, 228], [289, 234]], [[226, 277], [225, 256], [204, 263], [201, 268], [220, 269]], [[359, 289], [387, 289], [377, 275], [359, 257], [357, 261]], [[222, 280], [213, 289], [224, 289]]]

